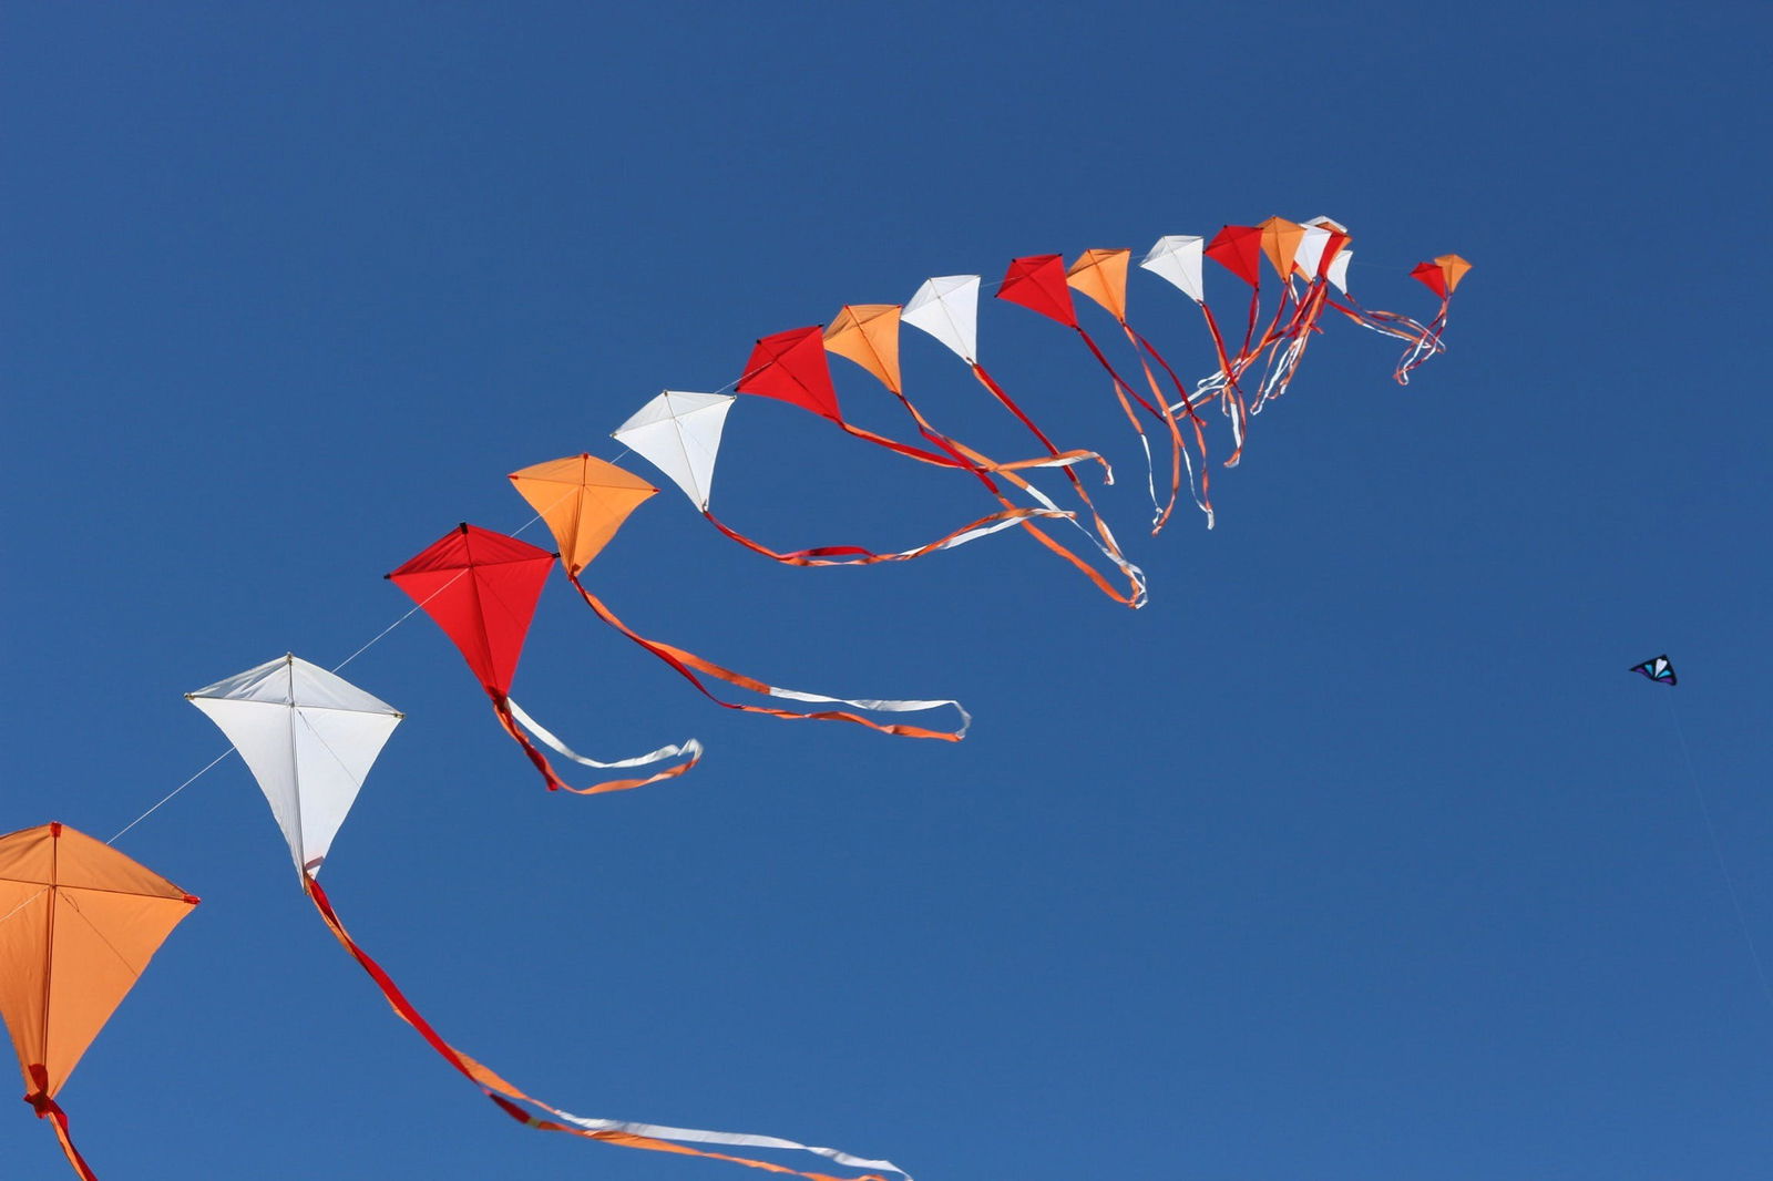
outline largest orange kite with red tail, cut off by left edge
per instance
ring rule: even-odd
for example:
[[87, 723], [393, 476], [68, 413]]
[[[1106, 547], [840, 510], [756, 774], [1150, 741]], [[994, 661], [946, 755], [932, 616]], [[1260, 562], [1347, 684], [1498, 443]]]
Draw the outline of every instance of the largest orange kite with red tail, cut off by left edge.
[[92, 1169], [55, 1096], [193, 906], [193, 896], [67, 825], [0, 837], [0, 1016], [25, 1101], [85, 1181]]

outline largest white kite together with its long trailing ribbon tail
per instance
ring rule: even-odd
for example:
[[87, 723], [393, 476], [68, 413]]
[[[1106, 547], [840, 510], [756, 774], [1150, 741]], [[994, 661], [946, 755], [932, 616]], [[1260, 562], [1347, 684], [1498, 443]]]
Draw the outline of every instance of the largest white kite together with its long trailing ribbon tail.
[[[550, 555], [551, 560], [553, 557]], [[488, 1099], [518, 1122], [541, 1131], [562, 1131], [622, 1147], [725, 1160], [778, 1174], [808, 1177], [810, 1181], [837, 1179], [745, 1156], [695, 1149], [681, 1142], [800, 1149], [817, 1153], [839, 1165], [883, 1169], [901, 1177], [906, 1176], [904, 1170], [890, 1161], [860, 1160], [837, 1149], [810, 1147], [775, 1137], [585, 1119], [553, 1108], [505, 1082], [436, 1032], [418, 1009], [413, 1007], [411, 1000], [406, 998], [388, 972], [351, 938], [349, 931], [339, 920], [332, 899], [326, 897], [326, 890], [319, 883], [319, 871], [332, 849], [333, 837], [356, 802], [356, 794], [371, 766], [404, 715], [344, 677], [293, 654], [225, 677], [195, 693], [186, 693], [186, 699], [202, 709], [227, 734], [234, 748], [239, 750], [241, 759], [245, 759], [246, 768], [259, 784], [259, 791], [264, 793], [266, 802], [271, 805], [271, 814], [284, 832], [284, 841], [289, 844], [289, 856], [301, 878], [301, 888], [309, 896], [309, 901], [314, 903], [326, 929], [351, 952], [358, 966], [369, 974], [394, 1013], [411, 1025], [445, 1062], [475, 1083]], [[11, 841], [11, 837], [5, 841]], [[0, 841], [0, 871], [5, 869], [5, 841]], [[110, 853], [108, 849], [105, 851]], [[0, 881], [0, 887], [4, 885], [9, 883]], [[188, 901], [195, 903], [197, 899]], [[57, 952], [60, 954], [60, 942], [57, 942]], [[7, 1013], [7, 1020], [12, 1021], [11, 1011]], [[878, 1172], [851, 1181], [869, 1181], [871, 1177], [872, 1181], [885, 1181]], [[906, 1181], [910, 1179], [906, 1177]]]

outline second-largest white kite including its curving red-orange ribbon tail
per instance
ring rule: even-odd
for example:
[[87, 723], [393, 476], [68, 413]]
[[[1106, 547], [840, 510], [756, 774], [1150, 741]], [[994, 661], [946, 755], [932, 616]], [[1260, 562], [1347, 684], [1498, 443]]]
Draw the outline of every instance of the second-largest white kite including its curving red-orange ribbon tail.
[[[817, 328], [810, 332], [817, 333]], [[819, 356], [823, 360], [823, 346]], [[796, 365], [801, 371], [810, 371], [803, 356], [796, 356]], [[784, 383], [784, 388], [800, 388], [791, 383]], [[824, 388], [832, 388], [830, 372], [824, 374]], [[794, 401], [794, 399], [785, 399]], [[771, 560], [784, 562], [787, 566], [872, 566], [874, 562], [908, 562], [911, 559], [920, 559], [929, 553], [940, 553], [941, 550], [954, 550], [968, 541], [977, 541], [979, 537], [988, 537], [995, 532], [1014, 528], [1027, 518], [1035, 516], [1057, 516], [1066, 518], [1067, 512], [1058, 509], [1011, 509], [1004, 512], [995, 512], [988, 518], [963, 525], [961, 528], [931, 541], [929, 544], [917, 546], [915, 550], [902, 550], [899, 553], [876, 553], [874, 550], [863, 550], [862, 546], [816, 546], [810, 550], [793, 550], [778, 551], [769, 546], [746, 537], [745, 534], [730, 528], [709, 509], [711, 489], [715, 482], [715, 459], [720, 454], [720, 433], [725, 427], [727, 413], [732, 410], [734, 397], [730, 394], [691, 394], [684, 390], [665, 390], [645, 406], [642, 406], [635, 415], [628, 418], [622, 426], [610, 433], [610, 438], [619, 442], [628, 450], [635, 452], [652, 466], [656, 466], [665, 477], [668, 477], [695, 505], [697, 512], [707, 518], [707, 523], [718, 528], [722, 534], [738, 541], [741, 546], [752, 553], [761, 553]], [[796, 401], [800, 406], [812, 408], [808, 401]], [[830, 406], [835, 413], [837, 392], [832, 388]], [[830, 417], [821, 410], [814, 410], [821, 417]], [[911, 449], [917, 450], [917, 449]], [[927, 452], [926, 452], [927, 454]], [[1087, 452], [1078, 452], [1083, 456]], [[1076, 458], [1060, 458], [1066, 463], [1076, 463]], [[1037, 465], [1044, 461], [1030, 461]], [[957, 461], [943, 459], [943, 466], [965, 466]]]

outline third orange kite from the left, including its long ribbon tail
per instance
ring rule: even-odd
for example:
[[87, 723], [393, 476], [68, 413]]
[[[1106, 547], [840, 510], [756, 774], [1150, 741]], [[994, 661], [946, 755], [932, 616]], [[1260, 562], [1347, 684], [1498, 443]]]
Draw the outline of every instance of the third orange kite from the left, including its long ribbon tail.
[[[972, 285], [972, 300], [977, 303], [977, 298], [979, 291], [975, 278]], [[886, 392], [892, 394], [899, 401], [899, 404], [904, 406], [906, 413], [911, 415], [911, 420], [917, 424], [918, 433], [933, 445], [940, 447], [956, 459], [966, 463], [968, 470], [979, 477], [986, 491], [996, 497], [998, 504], [1002, 504], [1005, 509], [1012, 509], [1014, 505], [1011, 504], [1009, 498], [1004, 497], [996, 482], [991, 479], [993, 472], [1000, 475], [1005, 482], [1011, 482], [1016, 488], [1028, 493], [1041, 507], [1050, 509], [1051, 512], [1057, 514], [1058, 505], [1053, 504], [1051, 498], [1048, 498], [1039, 488], [1030, 484], [1018, 472], [1005, 470], [1002, 465], [993, 463], [991, 459], [973, 450], [972, 447], [966, 447], [965, 443], [943, 434], [934, 426], [931, 426], [929, 418], [926, 418], [917, 406], [911, 404], [911, 399], [908, 399], [904, 394], [904, 381], [899, 371], [899, 323], [902, 319], [904, 319], [904, 309], [901, 309], [897, 303], [844, 305], [832, 319], [832, 326], [826, 328], [824, 332], [824, 348], [830, 353], [837, 353], [839, 356], [849, 358], [855, 364], [862, 365], [883, 387], [886, 387]], [[973, 323], [973, 319], [970, 317], [968, 323]], [[984, 369], [980, 369], [977, 362], [968, 362], [968, 365], [973, 369], [975, 374], [980, 376], [980, 381], [986, 383], [986, 388], [995, 388], [996, 383], [993, 383], [989, 376], [982, 376]], [[1004, 401], [1005, 404], [1014, 406], [1014, 403], [1007, 403], [1007, 395]], [[1019, 415], [1021, 411], [1016, 410], [1016, 413]], [[1027, 422], [1025, 417], [1023, 422]], [[1039, 431], [1039, 427], [1034, 427], [1032, 422], [1028, 422], [1028, 426], [1030, 429], [1034, 429], [1035, 436], [1046, 445], [1046, 449], [1053, 456], [1060, 454], [1058, 449], [1053, 447], [1051, 440], [1048, 440], [1046, 434]], [[1035, 541], [1039, 541], [1048, 550], [1051, 550], [1053, 553], [1057, 553], [1058, 557], [1066, 559], [1074, 567], [1078, 567], [1108, 598], [1133, 608], [1142, 606], [1145, 603], [1144, 573], [1136, 566], [1128, 562], [1126, 557], [1121, 553], [1121, 546], [1115, 543], [1113, 532], [1108, 530], [1108, 523], [1096, 511], [1096, 505], [1090, 502], [1089, 491], [1083, 488], [1083, 481], [1078, 479], [1071, 465], [1066, 465], [1062, 470], [1066, 477], [1071, 481], [1071, 486], [1076, 489], [1078, 498], [1083, 502], [1083, 507], [1089, 509], [1090, 518], [1096, 523], [1096, 532], [1092, 534], [1089, 528], [1078, 523], [1074, 514], [1069, 516], [1067, 520], [1085, 537], [1089, 537], [1090, 543], [1097, 550], [1101, 550], [1101, 553], [1110, 562], [1113, 562], [1122, 575], [1126, 575], [1129, 583], [1128, 590], [1124, 594], [1115, 590], [1099, 573], [1096, 573], [1096, 569], [1089, 566], [1089, 562], [1080, 559], [1064, 544], [1048, 537], [1044, 532], [1041, 532], [1041, 528], [1034, 521], [1023, 520], [1021, 527], [1030, 536], [1034, 536]], [[1108, 472], [1112, 479], [1112, 472], [1106, 461], [1103, 461], [1103, 470]]]

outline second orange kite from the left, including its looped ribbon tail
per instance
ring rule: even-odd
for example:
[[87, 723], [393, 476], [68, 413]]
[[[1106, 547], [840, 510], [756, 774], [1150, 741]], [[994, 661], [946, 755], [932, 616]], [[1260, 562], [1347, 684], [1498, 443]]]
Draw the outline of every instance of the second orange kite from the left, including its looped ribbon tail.
[[[707, 454], [711, 470], [713, 452]], [[768, 684], [741, 672], [732, 672], [730, 669], [723, 669], [697, 656], [695, 653], [688, 653], [681, 647], [661, 644], [658, 640], [649, 640], [647, 637], [633, 631], [628, 624], [617, 619], [615, 612], [612, 612], [598, 596], [585, 589], [585, 583], [580, 582], [580, 573], [583, 573], [603, 546], [610, 543], [628, 514], [658, 489], [613, 463], [606, 463], [589, 454], [567, 456], [566, 459], [550, 459], [548, 463], [532, 465], [521, 472], [512, 472], [511, 482], [518, 493], [528, 500], [537, 512], [541, 512], [548, 528], [553, 530], [555, 544], [560, 546], [560, 566], [566, 569], [567, 582], [571, 582], [573, 589], [585, 599], [585, 605], [590, 606], [590, 610], [594, 610], [606, 624], [676, 669], [684, 679], [690, 681], [690, 684], [700, 690], [700, 693], [716, 706], [739, 709], [743, 713], [761, 713], [771, 718], [851, 722], [871, 731], [897, 734], [902, 738], [940, 738], [945, 741], [959, 741], [966, 736], [966, 727], [972, 718], [957, 700], [851, 700], [846, 697], [826, 697], [823, 693], [803, 693]], [[807, 704], [849, 706], [849, 711], [821, 709], [816, 713], [796, 713], [791, 709], [771, 709], [768, 706], [730, 702], [716, 697], [697, 674], [716, 677], [738, 688], [762, 693], [764, 697]], [[876, 722], [853, 713], [853, 709], [871, 713], [922, 713], [926, 709], [947, 708], [952, 708], [961, 715], [961, 727], [957, 731], [933, 731], [920, 725]]]

